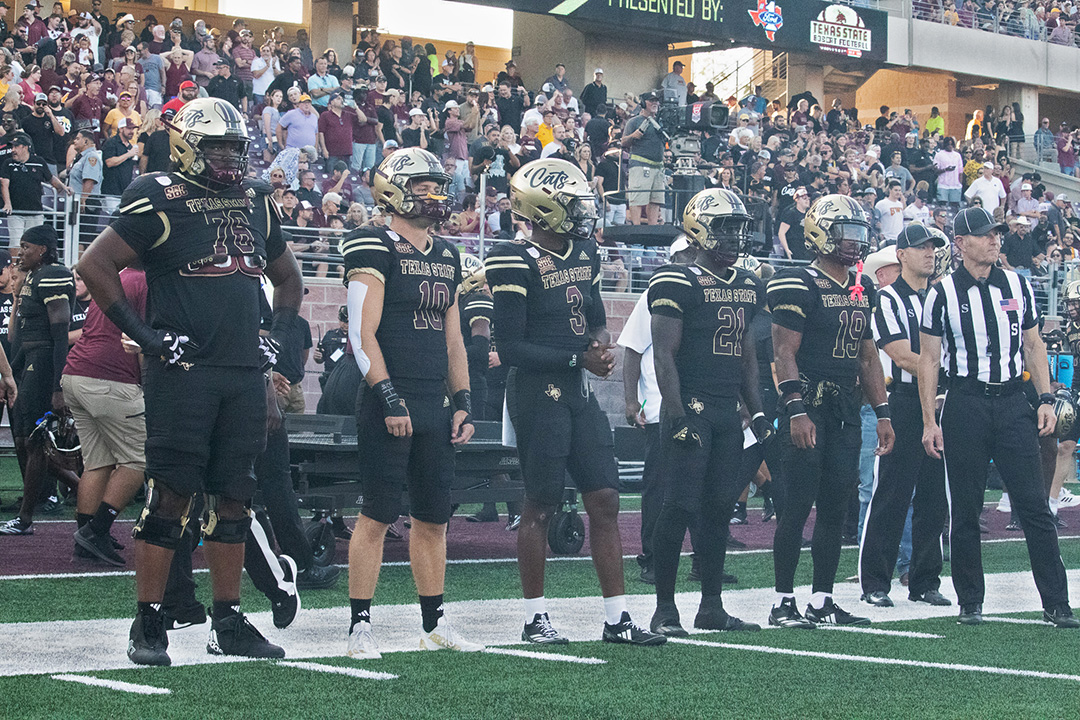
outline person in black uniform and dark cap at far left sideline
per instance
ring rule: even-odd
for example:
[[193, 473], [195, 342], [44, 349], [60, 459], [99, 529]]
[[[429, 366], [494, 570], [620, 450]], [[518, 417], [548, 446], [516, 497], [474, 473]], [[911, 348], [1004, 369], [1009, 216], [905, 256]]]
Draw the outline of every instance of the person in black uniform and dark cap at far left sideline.
[[[53, 227], [30, 228], [21, 242], [18, 264], [26, 272], [26, 280], [18, 290], [11, 343], [15, 353], [13, 365], [19, 373], [19, 393], [11, 411], [11, 434], [23, 468], [23, 506], [16, 517], [0, 526], [0, 534], [5, 535], [33, 534], [33, 505], [41, 497], [49, 464], [44, 433], [35, 430], [46, 412], [58, 415], [66, 407], [60, 376], [67, 359], [68, 325], [75, 303], [75, 277], [59, 261]], [[4, 384], [9, 384], [6, 380]], [[64, 479], [65, 474], [57, 477]]]

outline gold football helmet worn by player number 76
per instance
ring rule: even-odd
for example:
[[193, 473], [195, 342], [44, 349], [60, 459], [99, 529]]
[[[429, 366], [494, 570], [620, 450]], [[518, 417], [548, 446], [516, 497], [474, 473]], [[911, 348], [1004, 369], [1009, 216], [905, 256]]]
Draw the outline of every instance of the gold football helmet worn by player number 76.
[[214, 188], [244, 180], [251, 138], [243, 116], [232, 104], [199, 97], [172, 120], [162, 118], [162, 123], [168, 130], [168, 151], [180, 173]]

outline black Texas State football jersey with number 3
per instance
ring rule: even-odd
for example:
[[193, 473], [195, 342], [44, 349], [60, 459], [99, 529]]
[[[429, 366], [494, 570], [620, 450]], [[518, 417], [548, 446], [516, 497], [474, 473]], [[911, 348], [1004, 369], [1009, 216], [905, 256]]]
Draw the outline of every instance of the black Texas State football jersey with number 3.
[[589, 349], [590, 331], [607, 325], [599, 256], [591, 241], [568, 243], [566, 253], [559, 255], [528, 241], [511, 240], [496, 245], [484, 264], [495, 300], [499, 347], [511, 353], [511, 365], [531, 370], [571, 367], [551, 355], [544, 356], [546, 361], [530, 359], [527, 353], [514, 355], [512, 348], [525, 343], [566, 351], [576, 366]]

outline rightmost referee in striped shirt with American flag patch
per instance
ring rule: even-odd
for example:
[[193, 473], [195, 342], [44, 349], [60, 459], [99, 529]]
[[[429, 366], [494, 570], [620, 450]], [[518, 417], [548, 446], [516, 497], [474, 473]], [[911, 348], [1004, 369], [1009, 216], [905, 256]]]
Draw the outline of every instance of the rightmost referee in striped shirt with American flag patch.
[[[978, 512], [994, 460], [1024, 528], [1042, 619], [1057, 627], [1080, 627], [1069, 608], [1057, 531], [1042, 486], [1039, 436], [1053, 432], [1055, 418], [1035, 295], [1027, 280], [996, 267], [1005, 226], [995, 223], [982, 207], [969, 207], [953, 227], [963, 264], [927, 295], [919, 398], [922, 445], [931, 457], [945, 457], [959, 623], [983, 622]], [[942, 364], [948, 380], [939, 426], [935, 385]], [[1040, 393], [1037, 411], [1022, 391], [1025, 368]]]

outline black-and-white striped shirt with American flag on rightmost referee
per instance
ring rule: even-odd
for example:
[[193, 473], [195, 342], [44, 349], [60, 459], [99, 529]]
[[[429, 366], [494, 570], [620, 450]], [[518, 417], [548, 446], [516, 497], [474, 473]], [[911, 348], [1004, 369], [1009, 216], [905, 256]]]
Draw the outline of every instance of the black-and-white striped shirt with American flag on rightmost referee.
[[961, 266], [930, 288], [920, 329], [942, 338], [942, 364], [949, 378], [1008, 382], [1023, 375], [1023, 331], [1038, 324], [1027, 280], [991, 268], [980, 283]]

